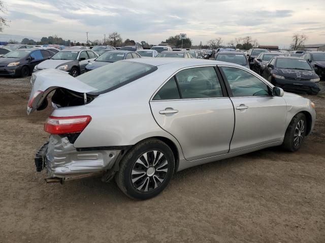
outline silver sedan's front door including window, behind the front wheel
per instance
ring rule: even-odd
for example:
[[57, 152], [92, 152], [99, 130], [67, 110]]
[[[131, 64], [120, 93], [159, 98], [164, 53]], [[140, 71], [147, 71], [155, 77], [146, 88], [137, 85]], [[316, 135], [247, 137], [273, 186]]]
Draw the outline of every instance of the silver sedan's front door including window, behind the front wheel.
[[256, 74], [239, 67], [219, 66], [235, 108], [230, 152], [279, 142], [285, 133], [286, 102]]

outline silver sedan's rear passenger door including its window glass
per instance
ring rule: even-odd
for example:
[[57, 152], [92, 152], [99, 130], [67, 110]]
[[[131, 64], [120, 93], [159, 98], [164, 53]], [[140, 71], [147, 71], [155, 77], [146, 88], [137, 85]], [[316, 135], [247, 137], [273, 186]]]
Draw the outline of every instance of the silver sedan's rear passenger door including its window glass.
[[157, 124], [178, 140], [187, 160], [228, 153], [234, 108], [215, 67], [180, 70], [154, 94], [150, 107]]

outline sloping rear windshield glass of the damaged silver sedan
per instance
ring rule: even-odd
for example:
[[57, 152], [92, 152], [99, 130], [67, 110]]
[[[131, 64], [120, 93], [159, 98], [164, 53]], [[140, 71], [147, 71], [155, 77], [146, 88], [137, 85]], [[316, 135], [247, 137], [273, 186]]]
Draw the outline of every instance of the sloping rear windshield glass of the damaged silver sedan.
[[97, 89], [95, 92], [91, 93], [99, 95], [131, 83], [155, 70], [157, 70], [157, 67], [152, 65], [131, 61], [120, 61], [96, 68], [76, 78], [86, 85]]

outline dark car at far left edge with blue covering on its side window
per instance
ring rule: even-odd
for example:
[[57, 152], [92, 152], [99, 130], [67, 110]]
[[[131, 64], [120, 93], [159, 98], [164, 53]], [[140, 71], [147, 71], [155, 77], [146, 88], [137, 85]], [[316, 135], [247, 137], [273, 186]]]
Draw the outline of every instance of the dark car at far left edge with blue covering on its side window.
[[0, 57], [0, 75], [25, 77], [40, 62], [53, 56], [52, 52], [39, 49], [17, 49]]

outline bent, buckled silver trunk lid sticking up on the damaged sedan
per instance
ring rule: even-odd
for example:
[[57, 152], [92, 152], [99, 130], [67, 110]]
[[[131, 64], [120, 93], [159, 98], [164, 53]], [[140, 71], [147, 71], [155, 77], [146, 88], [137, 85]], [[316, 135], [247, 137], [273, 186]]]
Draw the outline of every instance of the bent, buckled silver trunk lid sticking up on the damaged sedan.
[[27, 105], [28, 115], [41, 107], [48, 94], [55, 89], [63, 88], [78, 93], [89, 93], [96, 90], [69, 73], [57, 69], [45, 69], [34, 72], [30, 82], [32, 83], [32, 89]]

